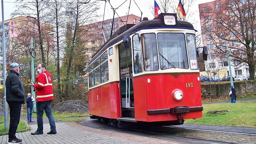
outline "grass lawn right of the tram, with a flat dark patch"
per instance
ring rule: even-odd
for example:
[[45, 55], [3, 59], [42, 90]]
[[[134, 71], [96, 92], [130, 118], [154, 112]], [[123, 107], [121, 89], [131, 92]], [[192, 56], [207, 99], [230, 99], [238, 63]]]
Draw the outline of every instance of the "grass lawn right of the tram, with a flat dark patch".
[[[256, 127], [256, 100], [236, 103], [204, 104], [203, 117], [185, 120], [188, 124]], [[210, 110], [230, 110], [226, 115], [206, 114]]]

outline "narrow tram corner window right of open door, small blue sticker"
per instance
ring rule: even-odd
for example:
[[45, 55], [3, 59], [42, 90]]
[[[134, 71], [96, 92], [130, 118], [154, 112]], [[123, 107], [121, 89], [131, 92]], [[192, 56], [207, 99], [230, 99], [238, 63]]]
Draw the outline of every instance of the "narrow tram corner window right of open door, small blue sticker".
[[134, 35], [133, 39], [133, 66], [134, 73], [140, 73], [143, 71], [142, 68], [142, 52], [141, 52], [141, 44], [138, 35]]

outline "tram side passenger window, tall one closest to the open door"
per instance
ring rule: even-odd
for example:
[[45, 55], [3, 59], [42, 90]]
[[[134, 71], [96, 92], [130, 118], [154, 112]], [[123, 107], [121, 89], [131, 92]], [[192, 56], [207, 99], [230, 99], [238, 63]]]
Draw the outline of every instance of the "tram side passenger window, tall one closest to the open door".
[[108, 52], [100, 56], [101, 83], [108, 81]]

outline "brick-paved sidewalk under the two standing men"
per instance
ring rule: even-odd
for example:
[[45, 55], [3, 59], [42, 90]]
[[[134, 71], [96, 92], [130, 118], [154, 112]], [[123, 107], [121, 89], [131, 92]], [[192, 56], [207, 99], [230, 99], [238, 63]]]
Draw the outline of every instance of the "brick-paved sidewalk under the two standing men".
[[[30, 124], [31, 132], [36, 131], [37, 125]], [[29, 132], [16, 133], [16, 137], [23, 140], [23, 144], [75, 144], [75, 143], [109, 143], [109, 144], [154, 144], [171, 143], [170, 141], [137, 136], [121, 132], [85, 127], [76, 123], [56, 123], [57, 134], [48, 135], [50, 125], [44, 124], [44, 134], [30, 135]], [[8, 142], [8, 135], [0, 136], [1, 144]]]

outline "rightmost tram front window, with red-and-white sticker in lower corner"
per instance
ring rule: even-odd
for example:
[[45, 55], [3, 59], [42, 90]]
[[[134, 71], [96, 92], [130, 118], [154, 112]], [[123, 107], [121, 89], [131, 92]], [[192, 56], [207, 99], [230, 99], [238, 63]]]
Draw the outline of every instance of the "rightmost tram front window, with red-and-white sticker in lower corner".
[[188, 45], [188, 58], [191, 69], [199, 69], [197, 64], [197, 51], [195, 34], [186, 34]]

